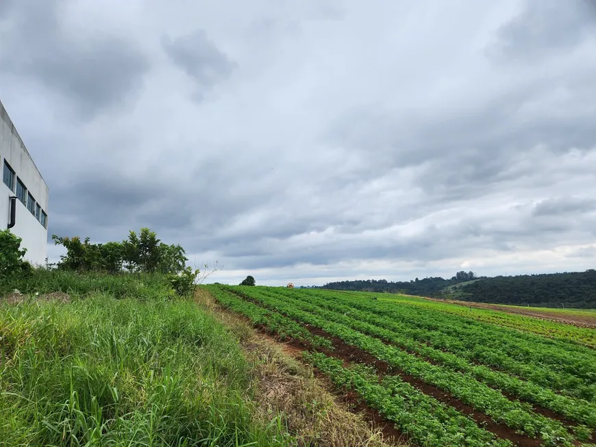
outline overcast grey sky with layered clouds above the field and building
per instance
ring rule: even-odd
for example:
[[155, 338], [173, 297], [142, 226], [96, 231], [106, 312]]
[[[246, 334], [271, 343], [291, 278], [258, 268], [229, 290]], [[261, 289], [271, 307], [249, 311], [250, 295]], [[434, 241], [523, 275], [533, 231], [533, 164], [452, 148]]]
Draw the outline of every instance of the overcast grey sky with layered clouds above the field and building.
[[0, 0], [0, 98], [49, 236], [229, 283], [596, 267], [593, 0]]

